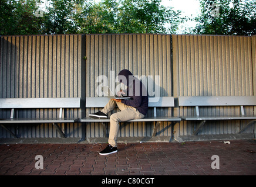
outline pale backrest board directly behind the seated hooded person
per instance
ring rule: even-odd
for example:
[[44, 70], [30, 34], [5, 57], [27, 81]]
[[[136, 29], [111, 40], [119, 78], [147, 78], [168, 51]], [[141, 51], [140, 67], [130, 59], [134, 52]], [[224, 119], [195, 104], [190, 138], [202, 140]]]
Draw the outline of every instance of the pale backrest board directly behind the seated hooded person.
[[[86, 98], [86, 108], [104, 108], [109, 102], [107, 97]], [[149, 107], [174, 107], [173, 97], [149, 98]]]

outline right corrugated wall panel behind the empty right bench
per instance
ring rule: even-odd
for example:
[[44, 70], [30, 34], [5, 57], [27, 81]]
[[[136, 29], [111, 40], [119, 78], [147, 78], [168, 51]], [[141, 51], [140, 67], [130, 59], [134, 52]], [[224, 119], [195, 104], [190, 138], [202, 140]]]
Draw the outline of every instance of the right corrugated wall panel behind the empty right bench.
[[[251, 37], [173, 35], [174, 97], [253, 95]], [[193, 115], [193, 108], [175, 108], [174, 115]], [[240, 107], [206, 107], [201, 114], [240, 114]], [[253, 113], [252, 107], [246, 108]], [[199, 134], [237, 133], [246, 122], [207, 122]], [[176, 125], [176, 136], [191, 135], [196, 122]], [[245, 133], [252, 133], [248, 127]]]

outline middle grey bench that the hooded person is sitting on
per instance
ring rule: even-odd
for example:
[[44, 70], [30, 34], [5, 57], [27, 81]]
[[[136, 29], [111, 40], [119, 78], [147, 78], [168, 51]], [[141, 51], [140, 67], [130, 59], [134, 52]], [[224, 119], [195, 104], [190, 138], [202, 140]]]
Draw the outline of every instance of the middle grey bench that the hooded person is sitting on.
[[[149, 108], [154, 108], [154, 116], [152, 117], [144, 117], [143, 119], [133, 119], [127, 122], [156, 122], [152, 136], [156, 136], [157, 128], [161, 122], [171, 122], [174, 126], [177, 122], [181, 121], [180, 117], [173, 116], [157, 116], [158, 107], [174, 107], [174, 98], [173, 97], [160, 97], [159, 101], [154, 102], [156, 98], [149, 98]], [[86, 98], [86, 108], [104, 108], [105, 105], [109, 102], [109, 98], [107, 97], [90, 97]], [[104, 123], [109, 123], [110, 119], [92, 119], [90, 117], [85, 117], [80, 119], [80, 122], [83, 123], [101, 123], [103, 126], [103, 135], [106, 137], [106, 126]]]

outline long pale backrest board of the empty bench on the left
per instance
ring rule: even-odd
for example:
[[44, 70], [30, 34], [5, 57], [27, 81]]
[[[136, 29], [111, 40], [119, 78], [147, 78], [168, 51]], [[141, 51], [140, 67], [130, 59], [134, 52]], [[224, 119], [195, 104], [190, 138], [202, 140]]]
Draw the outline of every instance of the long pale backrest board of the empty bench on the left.
[[6, 98], [0, 99], [0, 108], [80, 108], [80, 98]]

